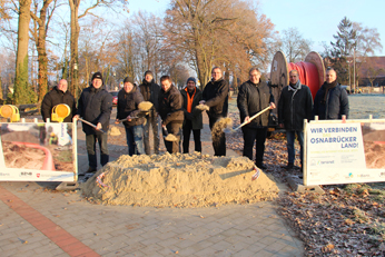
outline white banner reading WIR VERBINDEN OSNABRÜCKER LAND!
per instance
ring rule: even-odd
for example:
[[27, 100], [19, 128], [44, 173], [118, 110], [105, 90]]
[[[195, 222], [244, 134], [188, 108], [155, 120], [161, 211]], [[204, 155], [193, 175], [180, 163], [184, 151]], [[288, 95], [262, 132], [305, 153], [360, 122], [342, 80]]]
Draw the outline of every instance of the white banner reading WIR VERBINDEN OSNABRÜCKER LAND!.
[[312, 121], [304, 185], [385, 181], [385, 121]]

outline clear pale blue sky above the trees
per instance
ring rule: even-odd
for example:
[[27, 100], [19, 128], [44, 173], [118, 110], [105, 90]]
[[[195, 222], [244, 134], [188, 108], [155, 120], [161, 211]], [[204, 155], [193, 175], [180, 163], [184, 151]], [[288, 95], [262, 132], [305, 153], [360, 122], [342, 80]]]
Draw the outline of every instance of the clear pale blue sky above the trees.
[[[323, 52], [323, 41], [333, 41], [339, 21], [346, 16], [351, 21], [364, 27], [377, 28], [383, 50], [376, 56], [385, 56], [385, 1], [384, 0], [259, 0], [260, 13], [275, 24], [279, 32], [297, 28], [303, 38], [313, 41], [312, 50]], [[146, 10], [162, 16], [169, 0], [129, 0], [130, 13]]]

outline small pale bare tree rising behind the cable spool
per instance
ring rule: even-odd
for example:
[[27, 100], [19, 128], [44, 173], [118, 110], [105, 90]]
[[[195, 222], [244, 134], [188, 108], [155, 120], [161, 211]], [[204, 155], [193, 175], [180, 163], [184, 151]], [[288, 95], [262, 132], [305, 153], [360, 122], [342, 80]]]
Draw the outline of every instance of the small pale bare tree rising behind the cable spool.
[[297, 28], [283, 31], [282, 49], [286, 53], [288, 62], [305, 60], [306, 55], [310, 52], [312, 45], [312, 40], [304, 39]]

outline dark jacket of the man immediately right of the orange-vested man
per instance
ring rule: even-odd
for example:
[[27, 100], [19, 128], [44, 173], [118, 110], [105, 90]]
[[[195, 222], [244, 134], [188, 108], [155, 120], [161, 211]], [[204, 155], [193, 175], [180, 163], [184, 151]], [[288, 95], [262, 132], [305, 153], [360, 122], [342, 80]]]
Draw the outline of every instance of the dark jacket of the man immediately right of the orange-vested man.
[[223, 78], [209, 81], [201, 95], [205, 105], [210, 107], [207, 111], [209, 117], [226, 117], [228, 111], [228, 83]]

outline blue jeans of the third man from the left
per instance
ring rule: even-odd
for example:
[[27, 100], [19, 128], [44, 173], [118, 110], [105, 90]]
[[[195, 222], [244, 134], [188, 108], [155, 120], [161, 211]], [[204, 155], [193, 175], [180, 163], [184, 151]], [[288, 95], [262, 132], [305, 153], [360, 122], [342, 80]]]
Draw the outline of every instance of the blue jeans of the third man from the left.
[[128, 146], [128, 155], [142, 155], [144, 150], [144, 127], [142, 125], [137, 125], [132, 127], [126, 127], [126, 138]]

